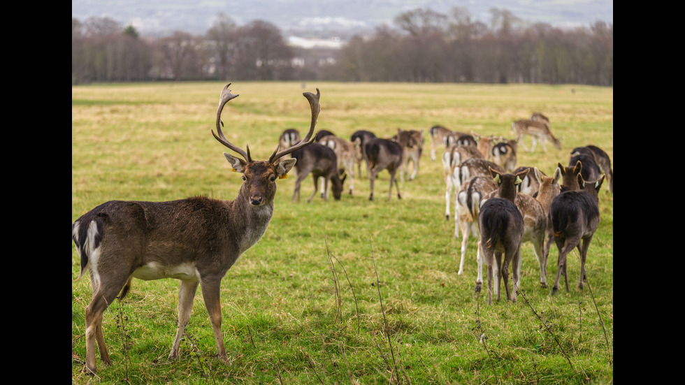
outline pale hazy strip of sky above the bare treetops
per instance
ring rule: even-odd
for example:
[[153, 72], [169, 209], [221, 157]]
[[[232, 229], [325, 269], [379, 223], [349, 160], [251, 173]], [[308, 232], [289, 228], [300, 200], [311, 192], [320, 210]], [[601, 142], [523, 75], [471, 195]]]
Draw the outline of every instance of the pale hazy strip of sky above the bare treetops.
[[71, 17], [110, 17], [132, 24], [143, 34], [180, 30], [203, 34], [218, 13], [238, 24], [266, 20], [287, 30], [298, 26], [336, 24], [373, 29], [392, 24], [399, 13], [429, 8], [449, 15], [454, 6], [489, 21], [490, 8], [511, 11], [526, 22], [555, 27], [588, 26], [598, 20], [614, 22], [613, 0], [72, 0]]

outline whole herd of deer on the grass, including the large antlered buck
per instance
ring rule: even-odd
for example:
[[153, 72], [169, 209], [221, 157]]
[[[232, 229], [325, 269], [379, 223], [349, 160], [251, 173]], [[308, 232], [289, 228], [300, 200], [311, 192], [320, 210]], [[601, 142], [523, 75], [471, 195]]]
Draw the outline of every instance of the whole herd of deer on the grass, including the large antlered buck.
[[[400, 182], [419, 177], [424, 130], [397, 129], [394, 136], [387, 138], [360, 130], [349, 140], [329, 131], [315, 134], [319, 89], [316, 94], [303, 93], [311, 109], [304, 138], [296, 129], [286, 129], [275, 138], [277, 147], [268, 160], [253, 160], [247, 146], [243, 150], [233, 145], [222, 131], [222, 110], [238, 96], [231, 94], [229, 85], [219, 96], [216, 132], [212, 130], [212, 135], [240, 156], [224, 152], [232, 170], [241, 173], [244, 181], [233, 201], [206, 197], [168, 202], [109, 201], [72, 225], [73, 242], [80, 256], [80, 277], [88, 270], [92, 286], [92, 300], [85, 310], [85, 370], [89, 373], [96, 372], [96, 349], [103, 363], [111, 362], [102, 329], [103, 312], [115, 298], [126, 296], [133, 278], [180, 281], [178, 328], [169, 360], [178, 358], [200, 286], [219, 358], [227, 361], [221, 331], [221, 280], [238, 257], [264, 235], [273, 215], [276, 180], [291, 170], [296, 173], [293, 202], [299, 201], [301, 182], [310, 174], [314, 191], [308, 202], [317, 192], [326, 200], [329, 189], [339, 200], [345, 181], [349, 181], [349, 194], [354, 194], [354, 178], [361, 177], [362, 165], [366, 166], [371, 201], [375, 180], [382, 171], [389, 173], [388, 200], [393, 186], [397, 198], [402, 197], [398, 176]], [[452, 131], [439, 125], [428, 129], [431, 161], [437, 160], [442, 149], [446, 219], [451, 217], [454, 197], [454, 238], [461, 233], [457, 274], [464, 271], [468, 240], [473, 237], [477, 242], [476, 291], [482, 289], [482, 267], [486, 266], [488, 303], [493, 294], [500, 299], [500, 279], [507, 299], [516, 300], [521, 287], [521, 245], [525, 242], [533, 247], [543, 288], [547, 287], [549, 249], [553, 242], [556, 244], [558, 269], [553, 294], [558, 291], [561, 275], [569, 291], [567, 256], [577, 248], [581, 265], [578, 286], [582, 289], [589, 244], [600, 222], [598, 193], [605, 179], [608, 191], [614, 191], [610, 157], [593, 145], [573, 149], [568, 166], [558, 162], [551, 176], [535, 166], [517, 167], [519, 144], [529, 152], [535, 151], [538, 141], [545, 151], [547, 142], [561, 149], [545, 115], [536, 112], [531, 119], [514, 121], [512, 132], [514, 139]], [[523, 143], [524, 136], [533, 139], [530, 149]], [[510, 266], [512, 289], [508, 284]]]

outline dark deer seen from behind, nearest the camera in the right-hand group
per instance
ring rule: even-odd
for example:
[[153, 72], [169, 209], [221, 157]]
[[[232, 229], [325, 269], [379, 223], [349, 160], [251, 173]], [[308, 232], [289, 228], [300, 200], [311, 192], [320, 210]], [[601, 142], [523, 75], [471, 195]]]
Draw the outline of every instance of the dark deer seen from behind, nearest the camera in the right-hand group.
[[[495, 293], [500, 300], [500, 279], [504, 279], [507, 299], [516, 302], [516, 290], [521, 274], [521, 241], [524, 238], [524, 218], [514, 204], [516, 184], [521, 182], [521, 175], [498, 173], [491, 169], [493, 180], [498, 184], [498, 197], [484, 201], [478, 215], [480, 231], [479, 248], [481, 258], [478, 260], [478, 277], [476, 291], [482, 286], [482, 260], [487, 263], [488, 304], [492, 304], [492, 278], [496, 276]], [[504, 254], [504, 261], [502, 260]], [[513, 270], [513, 293], [509, 289], [509, 265]]]

